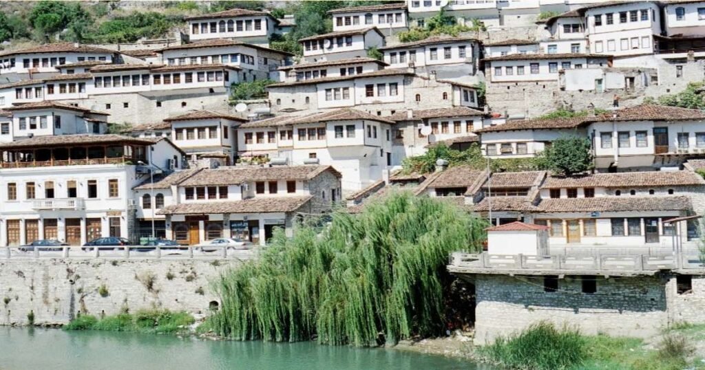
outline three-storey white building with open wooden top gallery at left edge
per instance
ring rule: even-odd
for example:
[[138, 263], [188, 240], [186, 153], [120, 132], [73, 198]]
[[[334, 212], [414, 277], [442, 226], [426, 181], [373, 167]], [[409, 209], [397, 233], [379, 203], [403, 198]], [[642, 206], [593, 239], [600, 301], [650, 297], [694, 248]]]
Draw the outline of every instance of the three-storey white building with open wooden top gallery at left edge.
[[132, 239], [132, 188], [149, 176], [147, 166], [180, 163], [181, 155], [168, 140], [86, 134], [7, 142], [0, 152], [0, 245]]

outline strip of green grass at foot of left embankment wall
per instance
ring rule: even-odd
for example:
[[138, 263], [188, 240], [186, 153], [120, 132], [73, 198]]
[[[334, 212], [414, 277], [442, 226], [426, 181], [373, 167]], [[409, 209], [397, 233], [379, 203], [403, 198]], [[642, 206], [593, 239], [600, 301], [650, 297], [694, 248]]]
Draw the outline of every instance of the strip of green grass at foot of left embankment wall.
[[185, 331], [195, 322], [186, 312], [142, 310], [135, 314], [117, 314], [97, 319], [82, 315], [63, 326], [64, 330], [128, 331], [132, 333], [173, 334]]

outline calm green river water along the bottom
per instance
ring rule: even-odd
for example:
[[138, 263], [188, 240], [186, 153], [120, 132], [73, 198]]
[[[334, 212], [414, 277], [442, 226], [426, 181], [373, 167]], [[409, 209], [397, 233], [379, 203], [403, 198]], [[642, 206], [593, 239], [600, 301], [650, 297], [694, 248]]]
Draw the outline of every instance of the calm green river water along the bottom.
[[0, 327], [0, 369], [479, 370], [460, 359], [315, 343]]

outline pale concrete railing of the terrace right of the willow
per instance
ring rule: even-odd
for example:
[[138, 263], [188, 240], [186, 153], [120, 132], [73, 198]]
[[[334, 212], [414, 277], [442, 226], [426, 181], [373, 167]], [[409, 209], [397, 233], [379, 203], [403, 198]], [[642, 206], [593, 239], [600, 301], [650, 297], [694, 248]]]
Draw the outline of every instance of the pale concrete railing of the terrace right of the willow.
[[551, 255], [470, 254], [453, 253], [450, 269], [527, 270], [527, 271], [658, 271], [670, 269], [703, 269], [697, 255]]

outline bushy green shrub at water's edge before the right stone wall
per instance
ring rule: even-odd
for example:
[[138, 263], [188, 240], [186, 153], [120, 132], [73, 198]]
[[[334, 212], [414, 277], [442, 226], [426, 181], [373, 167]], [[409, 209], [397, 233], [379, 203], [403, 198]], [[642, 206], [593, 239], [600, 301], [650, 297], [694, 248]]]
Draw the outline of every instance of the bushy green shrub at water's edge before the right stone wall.
[[585, 343], [577, 329], [559, 330], [552, 323], [540, 322], [516, 335], [498, 338], [479, 351], [492, 362], [511, 369], [560, 370], [586, 359]]

